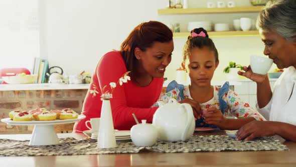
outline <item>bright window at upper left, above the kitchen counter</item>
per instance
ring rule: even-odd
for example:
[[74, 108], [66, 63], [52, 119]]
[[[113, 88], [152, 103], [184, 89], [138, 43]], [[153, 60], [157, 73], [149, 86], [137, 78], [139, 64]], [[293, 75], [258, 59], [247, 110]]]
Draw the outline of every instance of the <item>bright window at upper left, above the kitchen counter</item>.
[[38, 0], [0, 0], [0, 68], [33, 68], [40, 56]]

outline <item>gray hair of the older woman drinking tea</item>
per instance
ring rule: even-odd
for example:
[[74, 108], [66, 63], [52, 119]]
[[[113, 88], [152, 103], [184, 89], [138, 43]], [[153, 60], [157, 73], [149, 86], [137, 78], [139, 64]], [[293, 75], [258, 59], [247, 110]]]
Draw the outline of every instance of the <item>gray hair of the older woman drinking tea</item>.
[[268, 2], [257, 18], [256, 27], [275, 31], [286, 40], [296, 40], [296, 0]]

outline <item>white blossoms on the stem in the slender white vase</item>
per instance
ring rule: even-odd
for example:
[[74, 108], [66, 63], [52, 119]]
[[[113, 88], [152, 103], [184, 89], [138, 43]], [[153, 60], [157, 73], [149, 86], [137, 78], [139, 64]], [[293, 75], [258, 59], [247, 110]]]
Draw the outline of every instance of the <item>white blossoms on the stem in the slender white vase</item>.
[[[104, 92], [104, 89], [107, 87], [107, 86], [104, 86], [103, 89], [102, 89], [102, 92], [104, 92], [104, 93], [101, 95], [101, 100], [109, 100], [109, 99], [111, 99], [112, 98], [113, 90], [114, 90], [114, 88], [116, 88], [117, 84], [119, 84], [121, 86], [123, 83], [126, 83], [127, 80], [130, 80], [130, 76], [127, 75], [129, 72], [130, 71], [125, 72], [118, 79], [118, 81], [116, 83], [115, 82], [110, 82], [109, 83], [109, 86], [111, 88], [111, 93], [109, 93], [109, 91], [105, 91]], [[97, 91], [97, 87], [95, 85], [93, 85], [92, 88], [93, 88], [92, 90], [89, 90], [89, 93], [92, 94], [92, 97], [95, 97], [96, 94], [99, 94], [99, 92]]]

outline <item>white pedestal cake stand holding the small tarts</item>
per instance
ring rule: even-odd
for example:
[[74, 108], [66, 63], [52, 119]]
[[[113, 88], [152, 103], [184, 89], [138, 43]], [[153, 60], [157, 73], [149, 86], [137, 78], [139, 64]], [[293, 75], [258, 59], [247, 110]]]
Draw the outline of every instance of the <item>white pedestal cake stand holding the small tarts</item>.
[[4, 118], [1, 121], [8, 125], [35, 125], [29, 145], [53, 145], [60, 143], [54, 125], [74, 123], [84, 118], [84, 115], [79, 115], [76, 119], [55, 121], [13, 121], [10, 118]]

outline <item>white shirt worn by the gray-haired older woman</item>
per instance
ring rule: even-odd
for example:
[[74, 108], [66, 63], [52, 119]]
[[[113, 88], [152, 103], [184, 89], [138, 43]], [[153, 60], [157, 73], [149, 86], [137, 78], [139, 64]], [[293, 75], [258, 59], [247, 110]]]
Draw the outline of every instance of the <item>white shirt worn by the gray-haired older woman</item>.
[[266, 120], [296, 125], [296, 69], [288, 67], [276, 80], [272, 98], [264, 107], [257, 110]]

